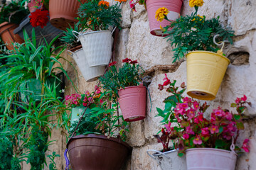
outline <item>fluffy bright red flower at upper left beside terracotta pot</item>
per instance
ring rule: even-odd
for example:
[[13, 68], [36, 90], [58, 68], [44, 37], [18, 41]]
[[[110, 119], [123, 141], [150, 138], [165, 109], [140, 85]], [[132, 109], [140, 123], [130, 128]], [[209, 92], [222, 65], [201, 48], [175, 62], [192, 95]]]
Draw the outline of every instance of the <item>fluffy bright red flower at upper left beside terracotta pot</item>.
[[49, 21], [48, 16], [48, 11], [41, 11], [41, 9], [37, 9], [31, 13], [31, 16], [29, 16], [29, 18], [31, 18], [31, 25], [33, 27], [41, 26], [41, 28], [43, 28]]

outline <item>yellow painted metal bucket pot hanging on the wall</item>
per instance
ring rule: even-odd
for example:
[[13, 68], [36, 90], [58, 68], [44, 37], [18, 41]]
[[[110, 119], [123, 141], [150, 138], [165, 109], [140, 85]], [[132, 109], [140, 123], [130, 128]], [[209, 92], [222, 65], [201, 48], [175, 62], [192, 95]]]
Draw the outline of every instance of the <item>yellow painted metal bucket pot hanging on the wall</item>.
[[193, 51], [186, 55], [186, 61], [188, 96], [213, 100], [230, 60], [222, 52]]

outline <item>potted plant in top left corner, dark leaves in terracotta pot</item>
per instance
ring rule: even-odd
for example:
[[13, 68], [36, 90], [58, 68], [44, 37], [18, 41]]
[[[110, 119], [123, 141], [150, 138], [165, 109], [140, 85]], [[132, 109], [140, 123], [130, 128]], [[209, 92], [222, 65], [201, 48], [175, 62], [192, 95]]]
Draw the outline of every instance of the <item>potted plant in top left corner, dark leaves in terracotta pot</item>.
[[14, 29], [18, 27], [21, 20], [28, 15], [28, 10], [23, 6], [24, 1], [11, 1], [1, 6], [0, 10], [0, 35], [9, 50], [13, 49], [12, 43], [22, 43], [23, 39], [14, 34]]

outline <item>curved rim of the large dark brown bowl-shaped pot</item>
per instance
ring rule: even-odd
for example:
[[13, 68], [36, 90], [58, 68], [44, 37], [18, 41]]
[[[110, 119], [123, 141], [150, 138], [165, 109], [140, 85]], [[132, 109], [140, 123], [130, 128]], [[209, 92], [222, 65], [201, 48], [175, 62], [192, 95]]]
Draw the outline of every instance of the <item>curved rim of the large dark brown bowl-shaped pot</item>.
[[68, 145], [70, 144], [70, 142], [72, 142], [73, 140], [78, 140], [78, 139], [82, 139], [82, 138], [98, 138], [98, 139], [102, 139], [102, 140], [111, 140], [113, 142], [117, 142], [121, 145], [124, 145], [125, 147], [127, 147], [130, 151], [132, 150], [132, 147], [130, 147], [126, 142], [123, 142], [121, 139], [117, 139], [114, 137], [107, 137], [105, 135], [95, 135], [95, 134], [88, 134], [88, 135], [77, 135], [74, 136], [72, 138], [70, 138], [70, 140], [68, 140], [68, 143], [66, 145], [66, 147], [68, 148]]

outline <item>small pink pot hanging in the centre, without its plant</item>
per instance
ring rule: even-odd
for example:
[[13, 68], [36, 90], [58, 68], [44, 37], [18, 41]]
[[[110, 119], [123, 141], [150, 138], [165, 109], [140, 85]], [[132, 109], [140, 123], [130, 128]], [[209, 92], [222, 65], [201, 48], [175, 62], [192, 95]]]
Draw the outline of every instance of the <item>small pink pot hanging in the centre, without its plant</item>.
[[118, 102], [124, 120], [134, 122], [142, 120], [146, 115], [146, 87], [129, 86], [118, 91]]

